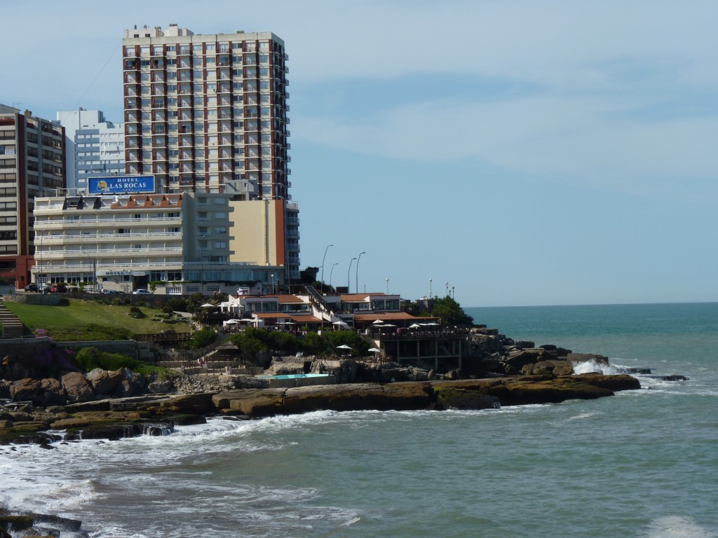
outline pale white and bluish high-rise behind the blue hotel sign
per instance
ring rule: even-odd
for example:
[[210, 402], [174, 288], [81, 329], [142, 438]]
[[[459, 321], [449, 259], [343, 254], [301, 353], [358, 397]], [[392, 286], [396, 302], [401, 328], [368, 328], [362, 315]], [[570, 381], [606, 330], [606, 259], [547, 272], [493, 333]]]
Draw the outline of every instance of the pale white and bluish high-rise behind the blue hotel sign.
[[125, 128], [105, 119], [101, 110], [58, 112], [65, 128], [67, 191], [88, 192], [88, 178], [125, 174]]

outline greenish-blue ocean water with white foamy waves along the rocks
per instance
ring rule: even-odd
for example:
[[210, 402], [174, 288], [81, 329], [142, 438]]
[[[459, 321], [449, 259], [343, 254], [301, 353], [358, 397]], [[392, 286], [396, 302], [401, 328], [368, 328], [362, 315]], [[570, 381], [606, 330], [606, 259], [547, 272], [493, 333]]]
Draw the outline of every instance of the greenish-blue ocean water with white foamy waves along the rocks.
[[718, 303], [467, 313], [689, 380], [640, 377], [642, 390], [558, 405], [0, 447], [0, 505], [82, 519], [96, 538], [718, 537]]

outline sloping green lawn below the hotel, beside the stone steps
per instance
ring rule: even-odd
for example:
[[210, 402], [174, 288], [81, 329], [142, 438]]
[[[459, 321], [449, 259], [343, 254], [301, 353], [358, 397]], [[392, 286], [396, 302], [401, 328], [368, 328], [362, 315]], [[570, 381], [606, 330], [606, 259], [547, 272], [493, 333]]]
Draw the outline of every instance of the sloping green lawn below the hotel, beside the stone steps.
[[29, 334], [44, 329], [56, 341], [126, 339], [134, 333], [148, 334], [172, 330], [191, 332], [187, 323], [162, 322], [166, 318], [157, 308], [141, 306], [144, 318], [132, 318], [129, 306], [69, 299], [60, 306], [40, 306], [5, 301], [5, 307], [22, 321]]

